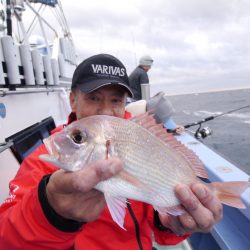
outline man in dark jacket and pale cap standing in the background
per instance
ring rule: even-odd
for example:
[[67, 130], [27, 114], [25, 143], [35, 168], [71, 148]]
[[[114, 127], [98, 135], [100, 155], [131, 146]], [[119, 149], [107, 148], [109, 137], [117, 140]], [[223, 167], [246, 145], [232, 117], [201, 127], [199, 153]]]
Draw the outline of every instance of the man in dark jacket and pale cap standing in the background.
[[129, 86], [132, 89], [135, 100], [142, 99], [141, 84], [149, 84], [147, 72], [153, 65], [153, 59], [150, 56], [143, 56], [139, 60], [139, 65], [129, 75]]

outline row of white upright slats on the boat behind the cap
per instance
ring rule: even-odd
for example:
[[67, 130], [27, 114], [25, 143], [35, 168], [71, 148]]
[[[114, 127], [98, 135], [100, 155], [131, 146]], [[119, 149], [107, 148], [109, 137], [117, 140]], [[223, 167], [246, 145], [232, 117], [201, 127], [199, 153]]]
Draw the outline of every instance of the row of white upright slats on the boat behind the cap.
[[72, 77], [74, 69], [62, 54], [56, 60], [29, 45], [15, 44], [10, 36], [0, 39], [0, 87], [58, 86], [61, 78]]

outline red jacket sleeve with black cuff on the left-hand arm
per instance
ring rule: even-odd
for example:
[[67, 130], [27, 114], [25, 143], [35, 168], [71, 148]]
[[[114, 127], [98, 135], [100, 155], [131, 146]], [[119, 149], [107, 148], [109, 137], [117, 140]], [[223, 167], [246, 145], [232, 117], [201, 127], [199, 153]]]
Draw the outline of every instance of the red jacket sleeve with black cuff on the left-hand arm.
[[57, 168], [40, 161], [38, 155], [42, 153], [46, 153], [44, 145], [23, 161], [10, 182], [10, 195], [0, 207], [0, 249], [73, 249], [75, 237], [82, 229], [75, 225], [73, 230], [60, 230], [44, 212], [44, 176]]

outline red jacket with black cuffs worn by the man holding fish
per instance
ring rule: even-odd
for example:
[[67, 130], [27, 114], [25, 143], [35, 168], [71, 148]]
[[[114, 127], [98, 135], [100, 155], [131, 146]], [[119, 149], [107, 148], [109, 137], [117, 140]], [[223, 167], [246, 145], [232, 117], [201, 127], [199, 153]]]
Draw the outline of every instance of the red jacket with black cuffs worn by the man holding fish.
[[[140, 249], [140, 244], [141, 249], [152, 250], [152, 231], [155, 240], [163, 245], [174, 245], [187, 237], [159, 230], [154, 225], [152, 206], [138, 201], [130, 201], [133, 211], [131, 214], [127, 209], [126, 231], [112, 220], [107, 207], [98, 220], [83, 225], [60, 218], [54, 211], [48, 212], [43, 202], [46, 195], [42, 186], [46, 187], [44, 180], [47, 178], [44, 176], [58, 168], [38, 158], [46, 153], [45, 146], [39, 146], [22, 162], [16, 177], [10, 182], [10, 196], [0, 207], [1, 250], [125, 250]], [[50, 218], [53, 220], [57, 216], [56, 224], [51, 223]]]

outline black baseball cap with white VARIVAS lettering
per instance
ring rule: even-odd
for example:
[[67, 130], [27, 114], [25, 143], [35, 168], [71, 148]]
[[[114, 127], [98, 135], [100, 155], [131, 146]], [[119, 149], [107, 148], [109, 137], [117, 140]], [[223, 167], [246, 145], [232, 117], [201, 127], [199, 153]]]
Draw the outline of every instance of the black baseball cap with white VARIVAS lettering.
[[99, 54], [87, 58], [77, 66], [71, 90], [80, 89], [90, 93], [113, 84], [123, 87], [129, 96], [133, 97], [125, 66], [112, 55]]

